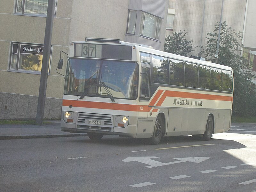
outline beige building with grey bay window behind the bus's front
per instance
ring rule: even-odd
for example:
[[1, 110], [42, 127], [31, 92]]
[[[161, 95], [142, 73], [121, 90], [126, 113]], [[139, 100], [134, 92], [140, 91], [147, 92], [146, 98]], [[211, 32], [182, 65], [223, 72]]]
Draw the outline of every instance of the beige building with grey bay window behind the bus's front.
[[[36, 117], [47, 3], [0, 2], [0, 119]], [[69, 42], [113, 38], [163, 50], [168, 3], [56, 0], [44, 118], [60, 118], [64, 78], [55, 69], [60, 51], [68, 52]], [[65, 70], [60, 72], [65, 74]]]

